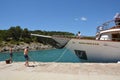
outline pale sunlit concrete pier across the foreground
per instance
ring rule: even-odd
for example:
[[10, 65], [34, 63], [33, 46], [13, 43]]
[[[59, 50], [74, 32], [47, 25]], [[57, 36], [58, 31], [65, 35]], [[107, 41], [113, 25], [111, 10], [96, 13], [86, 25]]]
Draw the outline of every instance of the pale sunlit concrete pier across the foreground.
[[0, 80], [120, 80], [120, 63], [0, 62]]

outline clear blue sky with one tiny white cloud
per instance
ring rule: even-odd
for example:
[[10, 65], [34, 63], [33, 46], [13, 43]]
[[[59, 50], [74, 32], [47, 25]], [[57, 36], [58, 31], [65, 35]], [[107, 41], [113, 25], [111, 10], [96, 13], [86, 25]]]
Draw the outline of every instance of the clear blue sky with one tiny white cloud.
[[66, 31], [94, 36], [120, 12], [120, 0], [0, 0], [0, 29]]

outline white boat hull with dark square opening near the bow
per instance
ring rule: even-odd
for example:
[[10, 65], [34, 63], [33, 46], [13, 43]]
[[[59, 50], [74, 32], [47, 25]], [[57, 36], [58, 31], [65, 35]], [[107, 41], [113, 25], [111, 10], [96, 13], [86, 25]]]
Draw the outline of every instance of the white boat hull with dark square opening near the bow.
[[118, 62], [120, 61], [120, 42], [71, 39], [66, 48], [75, 54], [80, 53], [82, 61]]

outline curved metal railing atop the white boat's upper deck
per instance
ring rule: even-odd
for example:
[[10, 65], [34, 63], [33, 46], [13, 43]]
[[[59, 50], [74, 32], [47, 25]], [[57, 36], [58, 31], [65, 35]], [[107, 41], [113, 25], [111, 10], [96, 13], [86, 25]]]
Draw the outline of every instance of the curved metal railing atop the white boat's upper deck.
[[100, 31], [116, 28], [117, 26], [119, 26], [117, 28], [120, 28], [120, 25], [118, 24], [120, 24], [120, 22], [115, 22], [115, 20], [107, 21], [97, 27], [97, 33], [99, 33]]

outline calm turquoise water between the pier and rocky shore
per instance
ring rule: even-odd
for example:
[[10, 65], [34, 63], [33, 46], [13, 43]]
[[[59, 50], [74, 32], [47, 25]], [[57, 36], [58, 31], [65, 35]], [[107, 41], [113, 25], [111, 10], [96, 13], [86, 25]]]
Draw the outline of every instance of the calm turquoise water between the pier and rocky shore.
[[[66, 48], [29, 51], [29, 57], [30, 61], [37, 62], [80, 62], [80, 59]], [[5, 61], [8, 58], [9, 53], [0, 53], [0, 61]], [[14, 52], [13, 61], [25, 61], [23, 52]]]

